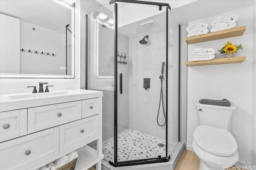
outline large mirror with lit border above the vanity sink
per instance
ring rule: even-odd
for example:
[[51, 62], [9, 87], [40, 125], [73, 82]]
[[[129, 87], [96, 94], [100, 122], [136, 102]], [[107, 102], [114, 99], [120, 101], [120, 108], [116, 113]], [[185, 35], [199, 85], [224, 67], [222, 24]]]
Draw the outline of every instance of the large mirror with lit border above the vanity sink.
[[0, 0], [0, 76], [74, 78], [74, 8], [57, 0]]

